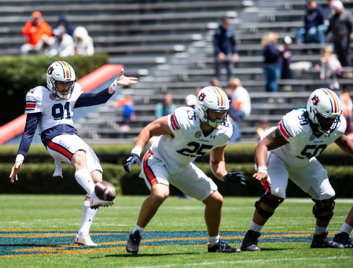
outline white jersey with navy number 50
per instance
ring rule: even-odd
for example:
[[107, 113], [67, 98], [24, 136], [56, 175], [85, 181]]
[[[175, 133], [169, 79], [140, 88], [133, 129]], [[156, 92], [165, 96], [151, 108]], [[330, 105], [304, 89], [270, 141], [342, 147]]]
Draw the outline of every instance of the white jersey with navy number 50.
[[330, 135], [316, 137], [309, 123], [306, 108], [287, 113], [278, 123], [265, 131], [262, 139], [277, 128], [277, 131], [289, 143], [271, 150], [288, 167], [304, 167], [311, 158], [322, 154], [325, 148], [339, 138], [346, 130], [346, 119], [341, 115], [336, 129]]

